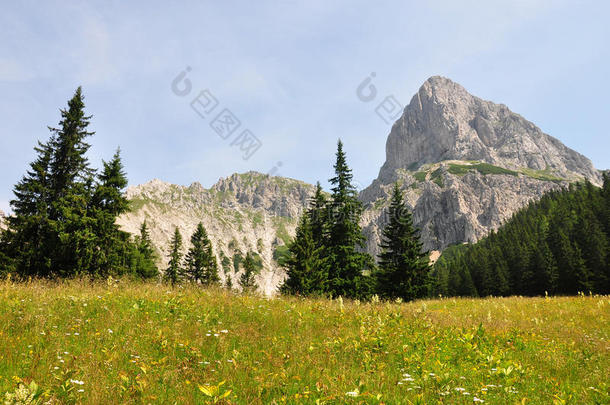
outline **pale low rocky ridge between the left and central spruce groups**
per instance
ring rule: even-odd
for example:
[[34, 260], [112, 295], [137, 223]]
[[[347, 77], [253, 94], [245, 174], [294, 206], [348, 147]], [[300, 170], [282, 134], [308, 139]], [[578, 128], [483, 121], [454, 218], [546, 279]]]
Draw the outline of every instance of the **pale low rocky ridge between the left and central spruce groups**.
[[251, 251], [262, 260], [258, 285], [264, 293], [272, 294], [285, 277], [277, 263], [278, 255], [294, 234], [313, 190], [313, 186], [297, 180], [254, 172], [220, 179], [210, 189], [199, 183], [184, 187], [152, 180], [127, 190], [132, 212], [120, 217], [118, 223], [125, 231], [137, 234], [146, 220], [165, 266], [174, 227], [180, 229], [186, 251], [190, 236], [202, 222], [212, 240], [223, 281], [231, 277], [237, 285], [241, 260]]

